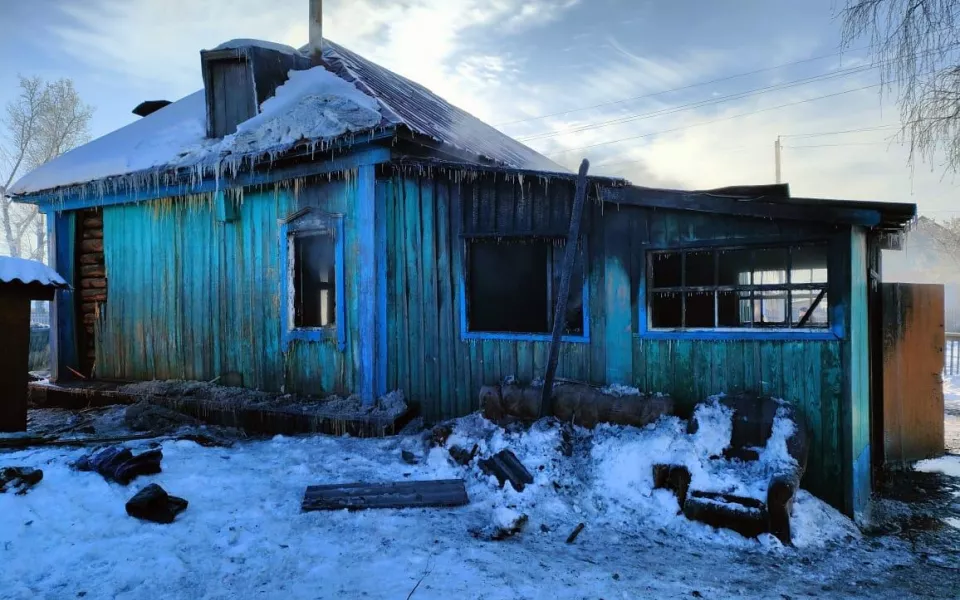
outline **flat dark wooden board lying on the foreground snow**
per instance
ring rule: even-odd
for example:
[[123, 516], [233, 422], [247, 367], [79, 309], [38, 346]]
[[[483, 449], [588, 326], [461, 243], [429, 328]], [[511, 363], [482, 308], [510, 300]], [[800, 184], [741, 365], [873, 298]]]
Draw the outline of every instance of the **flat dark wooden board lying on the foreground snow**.
[[367, 508], [422, 508], [463, 506], [469, 502], [462, 479], [396, 481], [390, 483], [335, 483], [311, 485], [303, 495], [304, 511], [363, 510]]

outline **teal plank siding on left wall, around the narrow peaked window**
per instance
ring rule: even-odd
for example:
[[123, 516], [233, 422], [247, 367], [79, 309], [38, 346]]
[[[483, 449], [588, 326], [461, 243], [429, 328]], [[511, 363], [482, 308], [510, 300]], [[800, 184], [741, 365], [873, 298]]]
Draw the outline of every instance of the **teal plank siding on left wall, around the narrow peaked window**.
[[[365, 174], [372, 187], [372, 170]], [[373, 226], [351, 214], [363, 181], [247, 193], [229, 222], [217, 219], [212, 195], [104, 208], [98, 376], [210, 380], [233, 371], [256, 389], [359, 389], [358, 274], [368, 265], [345, 253], [346, 350], [335, 340], [294, 341], [284, 354], [278, 220], [306, 206], [344, 214], [345, 247], [356, 249], [361, 228]]]

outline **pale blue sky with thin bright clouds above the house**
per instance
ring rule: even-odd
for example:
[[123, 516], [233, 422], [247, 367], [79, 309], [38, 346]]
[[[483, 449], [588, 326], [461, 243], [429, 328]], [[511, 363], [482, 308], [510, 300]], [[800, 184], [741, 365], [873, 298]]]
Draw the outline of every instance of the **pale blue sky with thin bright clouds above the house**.
[[[960, 216], [942, 164], [908, 164], [843, 0], [326, 0], [324, 34], [575, 170], [637, 185], [772, 183]], [[308, 0], [0, 0], [0, 104], [70, 77], [94, 137], [202, 87], [199, 50], [300, 46]]]

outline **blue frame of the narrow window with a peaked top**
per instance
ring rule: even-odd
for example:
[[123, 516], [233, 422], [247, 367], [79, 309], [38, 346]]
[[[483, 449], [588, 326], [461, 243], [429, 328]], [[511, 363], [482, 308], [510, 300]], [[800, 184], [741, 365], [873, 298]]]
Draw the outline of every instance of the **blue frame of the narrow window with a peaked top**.
[[[324, 327], [296, 327], [293, 298], [295, 284], [292, 266], [294, 264], [294, 240], [298, 236], [327, 235], [334, 241], [334, 323]], [[327, 213], [315, 208], [297, 211], [280, 221], [280, 318], [281, 348], [287, 352], [294, 340], [302, 342], [336, 343], [343, 352], [346, 339], [346, 285], [344, 282], [344, 232], [343, 215]]]

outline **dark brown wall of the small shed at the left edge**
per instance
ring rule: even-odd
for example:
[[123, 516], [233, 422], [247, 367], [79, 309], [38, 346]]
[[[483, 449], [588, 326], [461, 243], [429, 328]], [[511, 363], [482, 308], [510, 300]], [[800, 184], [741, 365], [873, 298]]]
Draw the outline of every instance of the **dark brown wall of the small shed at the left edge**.
[[30, 356], [30, 297], [0, 285], [0, 432], [27, 430], [27, 373]]

